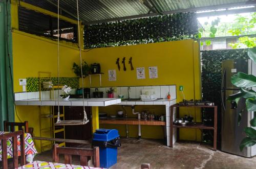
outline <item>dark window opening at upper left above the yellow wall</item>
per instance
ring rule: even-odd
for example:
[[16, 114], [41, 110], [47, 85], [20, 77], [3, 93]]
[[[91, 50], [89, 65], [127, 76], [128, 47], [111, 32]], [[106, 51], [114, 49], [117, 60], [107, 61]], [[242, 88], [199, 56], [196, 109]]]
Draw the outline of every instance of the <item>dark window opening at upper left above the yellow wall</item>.
[[[57, 39], [57, 18], [23, 7], [18, 8], [19, 30], [30, 34]], [[77, 43], [77, 25], [59, 20], [60, 40]]]

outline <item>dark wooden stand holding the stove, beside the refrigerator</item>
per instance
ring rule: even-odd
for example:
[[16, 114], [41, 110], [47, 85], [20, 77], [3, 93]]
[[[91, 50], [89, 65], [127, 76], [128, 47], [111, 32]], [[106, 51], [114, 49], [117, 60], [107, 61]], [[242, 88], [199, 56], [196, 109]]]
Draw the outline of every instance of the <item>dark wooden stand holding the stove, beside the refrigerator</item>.
[[[175, 125], [174, 122], [174, 107], [176, 107], [177, 118], [179, 118], [179, 108], [180, 107], [192, 107], [192, 108], [214, 108], [214, 126], [206, 126], [203, 123], [193, 123], [189, 125]], [[173, 147], [173, 129], [177, 128], [177, 133], [179, 133], [179, 128], [194, 128], [194, 129], [205, 129], [205, 130], [214, 130], [214, 148], [213, 150], [217, 150], [217, 106], [180, 106], [179, 104], [175, 104], [170, 106], [170, 147]], [[179, 134], [177, 134], [177, 140], [179, 139]]]

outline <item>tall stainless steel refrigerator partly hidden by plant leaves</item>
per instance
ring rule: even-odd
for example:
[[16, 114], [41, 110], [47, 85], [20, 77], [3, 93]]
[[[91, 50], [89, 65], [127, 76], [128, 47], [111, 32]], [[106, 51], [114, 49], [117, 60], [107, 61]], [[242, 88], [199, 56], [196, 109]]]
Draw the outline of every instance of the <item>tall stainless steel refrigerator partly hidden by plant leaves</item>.
[[[241, 99], [239, 103], [227, 101], [230, 94], [237, 93], [239, 88], [231, 83], [231, 76], [238, 72], [256, 75], [256, 65], [250, 59], [231, 59], [222, 62], [222, 139], [221, 150], [223, 152], [236, 154], [244, 157], [252, 157], [256, 155], [256, 145], [253, 147], [245, 147], [241, 152], [239, 149], [240, 142], [246, 137], [243, 132], [245, 127], [250, 127], [250, 119], [254, 113], [248, 112]], [[255, 90], [255, 89], [254, 89]], [[238, 116], [242, 112], [240, 126], [238, 125]]]

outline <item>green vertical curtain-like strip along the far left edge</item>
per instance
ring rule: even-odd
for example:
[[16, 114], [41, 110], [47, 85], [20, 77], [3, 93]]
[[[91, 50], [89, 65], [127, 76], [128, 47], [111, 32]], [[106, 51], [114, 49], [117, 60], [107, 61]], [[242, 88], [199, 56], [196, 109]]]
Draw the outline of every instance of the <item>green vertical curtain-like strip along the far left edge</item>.
[[12, 36], [10, 2], [0, 0], [0, 130], [3, 121], [14, 122]]

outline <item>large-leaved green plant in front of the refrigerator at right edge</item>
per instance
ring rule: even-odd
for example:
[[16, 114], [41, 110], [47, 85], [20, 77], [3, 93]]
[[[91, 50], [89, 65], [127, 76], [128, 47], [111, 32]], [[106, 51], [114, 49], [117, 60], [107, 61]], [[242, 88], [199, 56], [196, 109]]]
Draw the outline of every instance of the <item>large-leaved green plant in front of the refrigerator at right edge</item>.
[[[248, 56], [256, 63], [256, 48], [248, 49]], [[238, 103], [241, 98], [244, 98], [246, 109], [254, 112], [254, 117], [250, 120], [250, 125], [256, 127], [256, 92], [251, 89], [252, 87], [256, 87], [256, 77], [239, 72], [231, 77], [231, 83], [239, 87], [240, 91], [236, 94], [229, 95], [227, 100], [236, 101], [236, 103]], [[238, 123], [240, 123], [241, 114], [238, 120]], [[240, 151], [242, 151], [244, 147], [251, 147], [256, 144], [256, 130], [252, 127], [246, 127], [244, 129], [246, 137], [240, 143]]]

